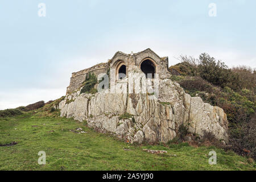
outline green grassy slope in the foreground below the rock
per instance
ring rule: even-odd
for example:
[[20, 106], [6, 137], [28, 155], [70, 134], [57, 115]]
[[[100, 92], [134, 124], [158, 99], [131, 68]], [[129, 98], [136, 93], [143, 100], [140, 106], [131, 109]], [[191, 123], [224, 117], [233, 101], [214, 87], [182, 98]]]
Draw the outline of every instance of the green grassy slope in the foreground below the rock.
[[[86, 133], [69, 131], [77, 127]], [[0, 118], [0, 144], [13, 141], [18, 144], [0, 147], [1, 170], [255, 170], [255, 164], [248, 164], [246, 158], [232, 151], [195, 148], [187, 143], [135, 146], [96, 133], [85, 123], [60, 117], [23, 114]], [[143, 148], [167, 150], [168, 154], [149, 154]], [[211, 150], [217, 152], [217, 165], [208, 164]], [[38, 164], [39, 151], [46, 152], [46, 165]]]

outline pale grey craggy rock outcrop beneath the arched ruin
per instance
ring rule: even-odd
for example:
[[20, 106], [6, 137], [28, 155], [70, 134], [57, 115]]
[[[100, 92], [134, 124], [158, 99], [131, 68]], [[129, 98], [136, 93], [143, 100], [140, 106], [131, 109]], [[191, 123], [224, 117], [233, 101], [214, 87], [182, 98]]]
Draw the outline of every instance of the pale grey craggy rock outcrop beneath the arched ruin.
[[[129, 88], [126, 80], [118, 81], [115, 86], [120, 90]], [[98, 131], [113, 133], [131, 143], [166, 143], [176, 137], [181, 125], [201, 137], [204, 131], [209, 131], [228, 143], [224, 111], [204, 103], [200, 97], [191, 97], [176, 82], [160, 79], [159, 95], [155, 99], [148, 93], [127, 90], [68, 94], [59, 104], [61, 117], [86, 121]]]

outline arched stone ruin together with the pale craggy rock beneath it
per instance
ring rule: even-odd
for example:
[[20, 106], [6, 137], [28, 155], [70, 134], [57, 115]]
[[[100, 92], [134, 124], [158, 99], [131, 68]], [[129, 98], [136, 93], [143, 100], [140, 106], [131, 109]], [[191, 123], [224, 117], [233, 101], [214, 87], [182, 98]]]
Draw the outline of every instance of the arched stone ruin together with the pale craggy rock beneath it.
[[[81, 93], [89, 73], [98, 80], [107, 75], [110, 84], [95, 94]], [[61, 117], [86, 121], [97, 131], [130, 143], [167, 143], [179, 134], [181, 125], [199, 137], [207, 131], [228, 143], [224, 111], [191, 97], [170, 77], [168, 57], [149, 48], [130, 54], [118, 51], [107, 63], [72, 73], [58, 108]]]

